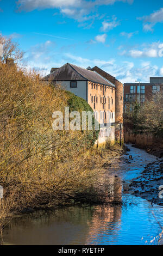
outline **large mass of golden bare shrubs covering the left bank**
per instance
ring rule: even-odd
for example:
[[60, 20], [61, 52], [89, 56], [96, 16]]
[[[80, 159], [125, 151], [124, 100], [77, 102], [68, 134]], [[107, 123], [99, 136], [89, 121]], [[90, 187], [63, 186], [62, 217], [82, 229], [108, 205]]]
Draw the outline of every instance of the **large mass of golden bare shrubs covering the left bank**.
[[[112, 161], [111, 151], [87, 151], [87, 131], [52, 129], [52, 113], [64, 110], [68, 94], [40, 82], [35, 72], [5, 64], [0, 64], [0, 83], [0, 230], [11, 213], [51, 208], [70, 199], [106, 198], [98, 187], [104, 163]], [[118, 155], [122, 149], [115, 151]]]

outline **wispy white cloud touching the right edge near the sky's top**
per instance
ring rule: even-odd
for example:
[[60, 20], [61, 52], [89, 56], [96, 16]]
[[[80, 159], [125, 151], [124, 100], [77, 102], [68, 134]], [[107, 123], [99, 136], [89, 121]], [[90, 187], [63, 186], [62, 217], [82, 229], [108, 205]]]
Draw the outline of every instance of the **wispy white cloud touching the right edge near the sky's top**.
[[153, 27], [158, 22], [163, 22], [163, 8], [160, 8], [157, 11], [154, 11], [154, 13], [137, 18], [138, 20], [143, 21], [143, 30], [144, 31], [151, 31], [153, 32]]

